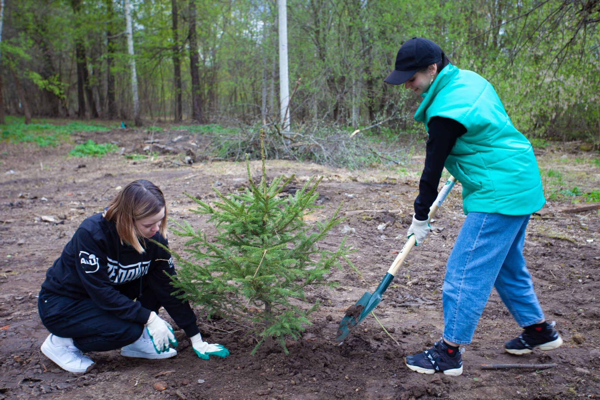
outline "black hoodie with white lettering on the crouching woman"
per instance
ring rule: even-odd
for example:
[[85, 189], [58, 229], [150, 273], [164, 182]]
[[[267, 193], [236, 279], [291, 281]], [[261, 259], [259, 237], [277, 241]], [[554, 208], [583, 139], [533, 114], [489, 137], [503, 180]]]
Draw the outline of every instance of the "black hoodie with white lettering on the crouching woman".
[[[152, 239], [169, 245], [160, 233]], [[151, 311], [118, 288], [122, 284], [141, 287], [141, 279], [148, 279], [152, 293], [173, 321], [188, 337], [196, 335], [196, 315], [189, 303], [171, 295], [171, 278], [165, 274], [175, 275], [171, 255], [145, 238], [142, 246], [146, 252], [139, 254], [130, 245], [121, 244], [115, 222], [107, 221], [101, 213], [92, 215], [79, 225], [61, 257], [47, 270], [41, 287], [73, 299], [92, 299], [98, 307], [122, 320], [145, 324]]]

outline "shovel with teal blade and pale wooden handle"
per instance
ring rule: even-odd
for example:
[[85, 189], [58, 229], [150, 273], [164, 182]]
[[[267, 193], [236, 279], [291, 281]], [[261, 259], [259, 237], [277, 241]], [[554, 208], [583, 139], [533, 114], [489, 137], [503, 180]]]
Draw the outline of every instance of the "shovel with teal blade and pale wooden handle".
[[[436, 215], [437, 209], [439, 209], [439, 207], [442, 205], [443, 201], [446, 199], [448, 193], [450, 193], [450, 190], [455, 183], [456, 178], [454, 178], [454, 176], [450, 176], [442, 190], [440, 190], [440, 193], [437, 194], [436, 201], [434, 201], [433, 205], [430, 207], [427, 221], [430, 221], [431, 218]], [[340, 326], [338, 327], [338, 336], [335, 338], [336, 341], [340, 342], [341, 344], [341, 341], [346, 339], [346, 336], [350, 335], [350, 332], [352, 332], [356, 325], [361, 323], [361, 321], [364, 320], [371, 311], [373, 311], [377, 304], [379, 304], [383, 292], [386, 291], [389, 284], [391, 284], [392, 280], [394, 280], [394, 276], [398, 272], [398, 269], [400, 269], [400, 266], [406, 259], [406, 256], [409, 254], [410, 249], [415, 246], [415, 242], [415, 235], [410, 235], [409, 239], [406, 241], [406, 243], [404, 243], [403, 248], [400, 250], [398, 256], [392, 263], [392, 266], [389, 267], [388, 273], [383, 276], [383, 279], [373, 294], [369, 293], [368, 291], [365, 292], [365, 294], [362, 295], [361, 299], [358, 300], [355, 305], [350, 306], [346, 310], [346, 315], [344, 315], [344, 318], [342, 318]]]

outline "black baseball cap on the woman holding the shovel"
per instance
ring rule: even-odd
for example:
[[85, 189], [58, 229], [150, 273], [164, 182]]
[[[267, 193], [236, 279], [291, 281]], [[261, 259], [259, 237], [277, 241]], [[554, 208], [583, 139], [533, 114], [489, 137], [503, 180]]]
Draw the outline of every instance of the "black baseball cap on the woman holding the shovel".
[[401, 85], [417, 71], [442, 61], [443, 52], [433, 41], [414, 37], [407, 40], [398, 50], [394, 71], [383, 82]]

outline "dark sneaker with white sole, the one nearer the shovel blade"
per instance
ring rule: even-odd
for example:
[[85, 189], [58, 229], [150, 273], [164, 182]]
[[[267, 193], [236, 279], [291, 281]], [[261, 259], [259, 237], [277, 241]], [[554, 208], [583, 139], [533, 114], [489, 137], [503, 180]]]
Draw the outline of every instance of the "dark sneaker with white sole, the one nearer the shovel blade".
[[457, 377], [463, 373], [463, 357], [461, 354], [463, 354], [464, 348], [461, 348], [454, 357], [450, 357], [446, 353], [447, 349], [448, 347], [443, 339], [440, 339], [429, 350], [404, 357], [404, 363], [413, 371], [419, 372], [419, 374], [433, 374], [439, 371]]

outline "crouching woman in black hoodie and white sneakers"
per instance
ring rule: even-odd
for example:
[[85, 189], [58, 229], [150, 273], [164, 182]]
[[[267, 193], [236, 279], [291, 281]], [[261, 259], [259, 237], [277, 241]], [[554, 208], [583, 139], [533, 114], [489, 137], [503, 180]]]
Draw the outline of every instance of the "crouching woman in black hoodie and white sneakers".
[[173, 357], [173, 329], [158, 316], [164, 306], [200, 358], [229, 355], [202, 340], [189, 303], [171, 294], [173, 260], [149, 240], [169, 245], [166, 221], [163, 192], [140, 180], [79, 225], [41, 285], [38, 310], [50, 331], [42, 353], [70, 372], [94, 364], [83, 354], [88, 351], [121, 348], [125, 357]]

